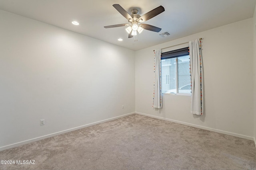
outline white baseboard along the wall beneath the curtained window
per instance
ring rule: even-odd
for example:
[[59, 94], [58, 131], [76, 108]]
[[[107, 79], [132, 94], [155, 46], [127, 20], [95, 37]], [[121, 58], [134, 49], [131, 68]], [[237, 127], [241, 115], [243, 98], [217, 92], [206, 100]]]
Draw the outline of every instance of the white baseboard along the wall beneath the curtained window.
[[236, 133], [232, 133], [232, 132], [227, 132], [227, 131], [222, 131], [222, 130], [218, 130], [218, 129], [212, 129], [212, 128], [210, 128], [210, 127], [204, 127], [204, 126], [194, 125], [194, 124], [191, 124], [191, 123], [186, 123], [186, 122], [182, 122], [182, 121], [176, 121], [176, 120], [172, 120], [172, 119], [168, 119], [168, 118], [163, 118], [163, 117], [158, 117], [158, 116], [154, 116], [154, 115], [148, 115], [148, 114], [145, 114], [145, 113], [139, 113], [139, 112], [136, 112], [136, 113], [137, 113], [137, 114], [140, 114], [140, 115], [144, 115], [144, 116], [154, 117], [154, 118], [156, 118], [156, 119], [162, 119], [162, 120], [171, 121], [171, 122], [174, 122], [174, 123], [180, 123], [180, 124], [182, 124], [182, 125], [188, 125], [188, 126], [192, 126], [192, 127], [197, 127], [197, 128], [205, 129], [205, 130], [208, 130], [208, 131], [223, 133], [223, 134], [226, 134], [226, 135], [231, 135], [231, 136], [235, 136], [235, 137], [240, 137], [240, 138], [243, 138], [243, 139], [249, 139], [249, 140], [254, 141], [254, 143], [255, 143], [255, 145], [256, 145], [256, 141], [255, 141], [255, 138], [254, 138], [254, 137], [249, 137], [249, 136], [240, 135], [240, 134], [236, 134]]

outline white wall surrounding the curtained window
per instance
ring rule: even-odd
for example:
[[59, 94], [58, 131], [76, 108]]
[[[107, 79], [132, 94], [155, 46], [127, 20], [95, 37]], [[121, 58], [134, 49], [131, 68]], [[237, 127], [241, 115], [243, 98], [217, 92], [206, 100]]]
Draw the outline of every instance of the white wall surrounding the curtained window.
[[[136, 112], [252, 140], [252, 35], [250, 18], [136, 51]], [[162, 110], [153, 109], [153, 50], [201, 37], [205, 114], [190, 114], [190, 96], [171, 94], [163, 94]]]

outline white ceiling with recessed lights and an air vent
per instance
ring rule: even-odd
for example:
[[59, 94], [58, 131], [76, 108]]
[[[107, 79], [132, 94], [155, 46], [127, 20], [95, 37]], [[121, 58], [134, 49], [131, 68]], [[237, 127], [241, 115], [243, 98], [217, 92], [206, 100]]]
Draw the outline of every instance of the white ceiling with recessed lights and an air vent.
[[[163, 13], [144, 22], [162, 30], [144, 30], [134, 41], [128, 39], [126, 27], [104, 28], [128, 23], [113, 4], [129, 14], [137, 8], [140, 16], [162, 5]], [[252, 18], [255, 4], [256, 0], [0, 0], [0, 9], [136, 51]], [[80, 25], [72, 25], [73, 20]], [[160, 37], [164, 31], [171, 35]]]

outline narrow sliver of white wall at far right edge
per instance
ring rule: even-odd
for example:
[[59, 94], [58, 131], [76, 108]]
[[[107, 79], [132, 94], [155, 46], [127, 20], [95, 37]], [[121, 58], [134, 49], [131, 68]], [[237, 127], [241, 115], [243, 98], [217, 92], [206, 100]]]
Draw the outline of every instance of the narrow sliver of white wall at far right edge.
[[253, 68], [254, 68], [254, 143], [256, 147], [256, 6], [253, 15]]

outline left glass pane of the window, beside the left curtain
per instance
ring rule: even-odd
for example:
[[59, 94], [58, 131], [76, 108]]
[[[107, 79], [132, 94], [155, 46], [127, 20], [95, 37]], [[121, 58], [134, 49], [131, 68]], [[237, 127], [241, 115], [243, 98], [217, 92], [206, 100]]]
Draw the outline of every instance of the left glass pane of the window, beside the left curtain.
[[162, 93], [176, 94], [176, 58], [162, 60]]

